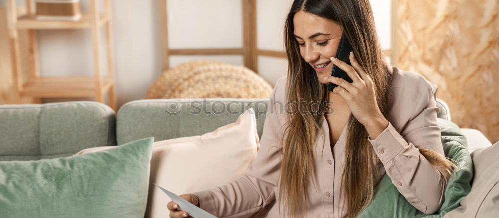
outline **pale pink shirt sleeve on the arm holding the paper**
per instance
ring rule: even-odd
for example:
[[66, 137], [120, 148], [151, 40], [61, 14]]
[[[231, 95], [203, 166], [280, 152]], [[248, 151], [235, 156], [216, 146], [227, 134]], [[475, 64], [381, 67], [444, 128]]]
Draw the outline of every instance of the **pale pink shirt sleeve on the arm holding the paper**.
[[[282, 80], [279, 79], [279, 81]], [[245, 175], [213, 189], [192, 193], [200, 208], [220, 218], [247, 218], [275, 201], [280, 176], [281, 123], [275, 106], [277, 81], [269, 99], [256, 159]], [[283, 84], [284, 85], [284, 84]]]

